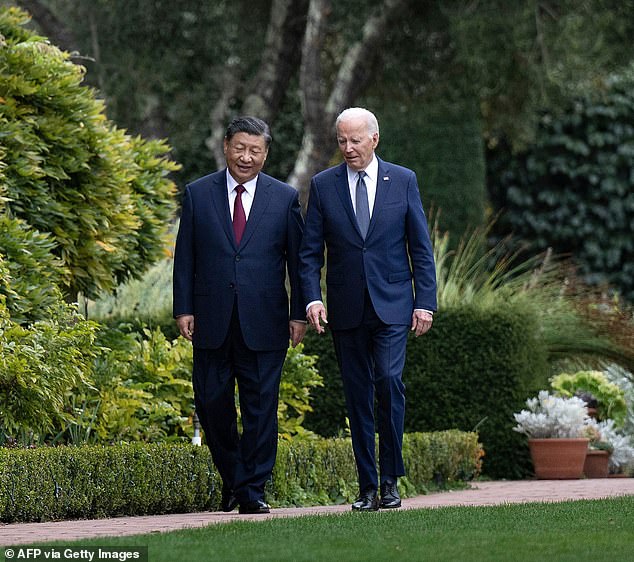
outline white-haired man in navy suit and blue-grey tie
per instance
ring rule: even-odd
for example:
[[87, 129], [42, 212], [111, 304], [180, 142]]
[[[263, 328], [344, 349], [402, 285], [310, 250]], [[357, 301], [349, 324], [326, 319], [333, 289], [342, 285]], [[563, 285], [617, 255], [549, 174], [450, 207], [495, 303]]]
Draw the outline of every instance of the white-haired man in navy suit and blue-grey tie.
[[[332, 330], [359, 475], [352, 509], [376, 511], [401, 505], [407, 334], [411, 328], [420, 336], [432, 325], [436, 275], [416, 175], [376, 157], [376, 117], [347, 109], [336, 131], [345, 162], [311, 181], [302, 288], [309, 323], [321, 333], [328, 321]], [[320, 289], [324, 248], [328, 315]]]

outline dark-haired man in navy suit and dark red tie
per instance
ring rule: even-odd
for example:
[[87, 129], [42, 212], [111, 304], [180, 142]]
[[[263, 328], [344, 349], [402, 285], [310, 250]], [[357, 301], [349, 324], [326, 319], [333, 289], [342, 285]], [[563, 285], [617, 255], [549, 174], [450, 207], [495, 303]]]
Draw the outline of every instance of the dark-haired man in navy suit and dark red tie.
[[221, 507], [240, 513], [269, 512], [282, 366], [289, 338], [296, 346], [306, 331], [303, 219], [297, 191], [261, 172], [270, 142], [264, 121], [231, 122], [227, 168], [187, 186], [174, 255], [174, 317], [194, 345], [196, 412], [222, 477]]

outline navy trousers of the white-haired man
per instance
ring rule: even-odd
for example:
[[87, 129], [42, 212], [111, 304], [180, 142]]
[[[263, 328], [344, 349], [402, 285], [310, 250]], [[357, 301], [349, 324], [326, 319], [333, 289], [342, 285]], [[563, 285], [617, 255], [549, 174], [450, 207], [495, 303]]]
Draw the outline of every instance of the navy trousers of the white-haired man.
[[405, 385], [402, 381], [409, 326], [384, 324], [366, 293], [363, 321], [333, 330], [346, 397], [359, 489], [377, 489], [374, 399], [377, 400], [381, 482], [403, 476]]

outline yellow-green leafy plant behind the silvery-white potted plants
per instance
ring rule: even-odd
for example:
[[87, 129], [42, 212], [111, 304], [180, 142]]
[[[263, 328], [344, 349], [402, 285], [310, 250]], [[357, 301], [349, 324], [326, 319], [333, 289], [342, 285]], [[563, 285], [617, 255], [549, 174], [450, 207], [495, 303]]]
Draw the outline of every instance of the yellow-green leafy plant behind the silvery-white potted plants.
[[627, 414], [625, 393], [601, 371], [560, 373], [551, 379], [550, 385], [553, 390], [566, 397], [591, 394], [597, 401], [597, 418], [610, 418], [617, 427], [623, 426]]

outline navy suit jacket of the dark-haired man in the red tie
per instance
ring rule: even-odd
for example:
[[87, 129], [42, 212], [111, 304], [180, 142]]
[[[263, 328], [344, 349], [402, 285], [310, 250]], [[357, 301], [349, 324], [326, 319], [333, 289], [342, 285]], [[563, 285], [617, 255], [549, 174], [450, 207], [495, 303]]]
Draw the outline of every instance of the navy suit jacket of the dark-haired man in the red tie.
[[174, 316], [194, 315], [193, 344], [216, 349], [237, 295], [240, 327], [254, 351], [286, 349], [290, 318], [305, 320], [298, 271], [303, 219], [298, 193], [260, 173], [246, 228], [233, 234], [226, 170], [187, 186], [174, 255]]

